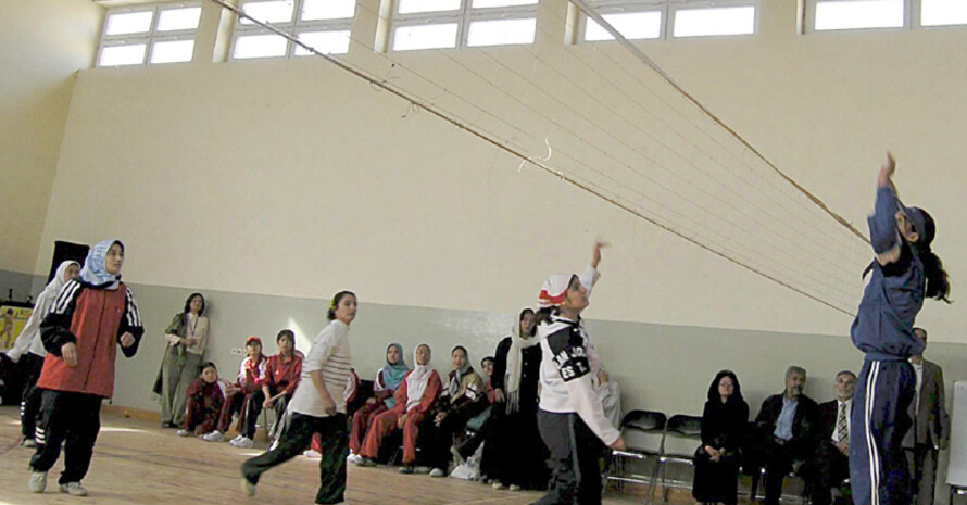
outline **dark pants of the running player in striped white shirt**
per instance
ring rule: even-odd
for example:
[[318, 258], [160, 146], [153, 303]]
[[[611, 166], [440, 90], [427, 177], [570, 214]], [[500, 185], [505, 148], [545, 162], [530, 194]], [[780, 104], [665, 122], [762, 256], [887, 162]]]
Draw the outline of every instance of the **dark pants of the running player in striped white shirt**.
[[319, 433], [319, 491], [315, 503], [339, 503], [346, 492], [346, 457], [349, 455], [349, 432], [346, 414], [331, 417], [313, 417], [293, 412], [289, 426], [279, 438], [278, 445], [261, 456], [242, 463], [242, 476], [253, 484], [269, 468], [281, 465], [299, 455]]

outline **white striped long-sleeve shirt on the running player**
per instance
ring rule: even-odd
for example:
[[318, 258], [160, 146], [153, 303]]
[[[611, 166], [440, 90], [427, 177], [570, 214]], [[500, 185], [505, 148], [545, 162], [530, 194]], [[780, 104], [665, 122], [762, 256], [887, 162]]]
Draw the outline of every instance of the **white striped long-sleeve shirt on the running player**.
[[337, 319], [329, 323], [312, 342], [312, 350], [302, 362], [302, 377], [289, 408], [306, 416], [327, 417], [311, 376], [313, 371], [322, 370], [329, 397], [336, 403], [336, 411], [346, 414], [346, 399], [342, 393], [350, 369], [349, 326]]

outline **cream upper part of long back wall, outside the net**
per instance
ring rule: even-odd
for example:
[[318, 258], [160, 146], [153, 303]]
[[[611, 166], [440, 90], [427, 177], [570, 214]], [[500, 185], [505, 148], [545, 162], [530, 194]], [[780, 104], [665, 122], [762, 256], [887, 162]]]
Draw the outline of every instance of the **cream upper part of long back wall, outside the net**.
[[[967, 30], [801, 36], [786, 3], [763, 3], [755, 37], [642, 48], [862, 229], [893, 149], [904, 198], [939, 223], [956, 299], [967, 56], [950, 49]], [[561, 51], [627, 58], [614, 45]], [[450, 83], [454, 60], [477, 62], [398, 59]], [[615, 248], [590, 317], [846, 334], [850, 317], [406, 111], [321, 60], [83, 72], [36, 272], [55, 239], [118, 236], [137, 282], [310, 298], [348, 287], [377, 303], [514, 312], [548, 274], [580, 268], [601, 235]], [[920, 323], [964, 342], [956, 314], [931, 302]]]

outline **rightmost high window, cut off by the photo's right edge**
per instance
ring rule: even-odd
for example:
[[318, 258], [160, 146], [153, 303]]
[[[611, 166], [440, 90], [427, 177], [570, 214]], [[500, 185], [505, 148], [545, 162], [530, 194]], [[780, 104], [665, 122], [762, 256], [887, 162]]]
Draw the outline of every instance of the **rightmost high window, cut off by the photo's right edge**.
[[967, 25], [964, 0], [808, 0], [803, 31]]

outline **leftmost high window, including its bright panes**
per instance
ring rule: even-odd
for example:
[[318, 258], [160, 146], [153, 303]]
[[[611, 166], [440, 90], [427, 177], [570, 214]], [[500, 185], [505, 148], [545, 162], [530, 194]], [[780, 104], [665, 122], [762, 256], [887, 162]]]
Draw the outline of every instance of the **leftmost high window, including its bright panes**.
[[104, 17], [98, 66], [190, 62], [200, 20], [200, 2], [111, 9]]

